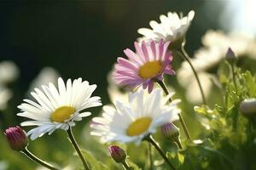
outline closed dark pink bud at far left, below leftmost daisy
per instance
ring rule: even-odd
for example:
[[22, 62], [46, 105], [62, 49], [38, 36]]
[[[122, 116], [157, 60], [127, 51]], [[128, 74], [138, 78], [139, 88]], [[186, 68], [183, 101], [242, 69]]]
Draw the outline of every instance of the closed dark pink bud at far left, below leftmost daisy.
[[7, 136], [9, 146], [13, 150], [24, 150], [28, 144], [26, 132], [21, 127], [9, 127], [4, 134]]

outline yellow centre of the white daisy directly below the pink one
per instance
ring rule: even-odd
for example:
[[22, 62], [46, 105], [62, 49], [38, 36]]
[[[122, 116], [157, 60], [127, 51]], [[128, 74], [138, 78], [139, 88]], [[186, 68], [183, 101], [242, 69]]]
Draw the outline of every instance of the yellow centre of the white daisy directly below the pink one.
[[127, 128], [126, 133], [128, 136], [137, 136], [141, 133], [144, 133], [146, 130], [148, 130], [148, 127], [151, 123], [150, 117], [143, 117], [140, 119], [137, 119], [135, 122], [132, 122], [131, 125]]

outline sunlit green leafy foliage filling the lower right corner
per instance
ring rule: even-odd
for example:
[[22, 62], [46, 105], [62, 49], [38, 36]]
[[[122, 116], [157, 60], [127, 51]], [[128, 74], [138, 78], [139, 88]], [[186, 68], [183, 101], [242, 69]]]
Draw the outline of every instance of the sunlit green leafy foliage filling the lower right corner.
[[256, 79], [250, 71], [236, 69], [235, 81], [236, 84], [230, 77], [223, 82], [223, 105], [215, 105], [213, 109], [207, 105], [195, 106], [207, 132], [201, 133], [201, 139], [205, 139], [203, 143], [189, 145], [187, 149], [192, 156], [205, 157], [206, 162], [196, 169], [255, 169], [249, 160], [252, 159], [252, 150], [255, 151], [253, 139], [256, 130], [253, 121], [241, 115], [239, 105], [241, 100], [255, 97]]

